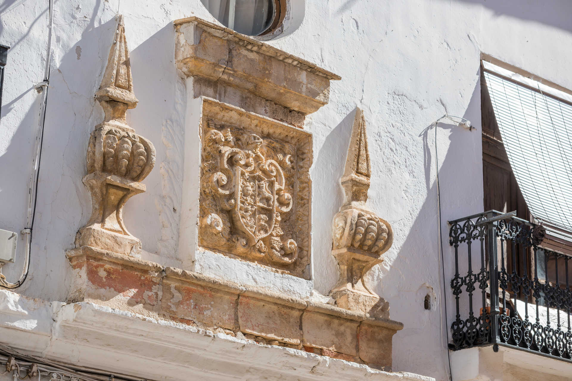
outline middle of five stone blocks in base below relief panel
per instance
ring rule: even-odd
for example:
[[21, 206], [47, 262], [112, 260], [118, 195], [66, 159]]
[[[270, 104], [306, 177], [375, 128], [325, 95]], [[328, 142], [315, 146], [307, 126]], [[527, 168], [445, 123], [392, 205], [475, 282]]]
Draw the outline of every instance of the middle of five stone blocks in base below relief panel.
[[252, 296], [239, 298], [239, 325], [244, 333], [300, 344], [300, 316], [303, 310]]

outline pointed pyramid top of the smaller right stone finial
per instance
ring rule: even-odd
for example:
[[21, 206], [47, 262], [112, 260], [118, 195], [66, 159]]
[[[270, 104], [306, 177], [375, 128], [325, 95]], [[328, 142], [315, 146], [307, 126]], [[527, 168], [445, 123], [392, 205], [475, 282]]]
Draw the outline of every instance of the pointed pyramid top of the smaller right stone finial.
[[345, 203], [366, 202], [370, 189], [370, 151], [367, 148], [366, 118], [363, 111], [356, 108], [352, 135], [349, 138], [348, 158], [345, 162], [341, 185], [345, 191]]

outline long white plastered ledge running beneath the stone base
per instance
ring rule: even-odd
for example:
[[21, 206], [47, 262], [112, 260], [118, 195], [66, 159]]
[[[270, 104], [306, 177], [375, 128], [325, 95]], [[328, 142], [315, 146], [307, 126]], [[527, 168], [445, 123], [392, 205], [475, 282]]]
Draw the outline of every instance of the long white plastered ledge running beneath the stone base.
[[0, 338], [29, 355], [146, 380], [435, 381], [94, 303], [50, 303], [7, 290], [0, 290]]

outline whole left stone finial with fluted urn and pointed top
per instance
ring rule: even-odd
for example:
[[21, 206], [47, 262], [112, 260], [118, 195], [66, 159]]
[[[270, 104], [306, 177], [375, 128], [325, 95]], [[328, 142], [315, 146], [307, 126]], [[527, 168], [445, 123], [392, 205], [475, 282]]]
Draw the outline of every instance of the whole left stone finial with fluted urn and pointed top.
[[91, 246], [120, 254], [140, 254], [141, 241], [131, 235], [123, 222], [126, 201], [145, 191], [140, 182], [155, 163], [153, 144], [137, 135], [125, 120], [127, 109], [137, 105], [125, 26], [120, 16], [109, 52], [108, 66], [97, 99], [104, 122], [96, 126], [86, 155], [88, 175], [83, 179], [92, 196], [92, 215], [76, 236], [76, 247]]

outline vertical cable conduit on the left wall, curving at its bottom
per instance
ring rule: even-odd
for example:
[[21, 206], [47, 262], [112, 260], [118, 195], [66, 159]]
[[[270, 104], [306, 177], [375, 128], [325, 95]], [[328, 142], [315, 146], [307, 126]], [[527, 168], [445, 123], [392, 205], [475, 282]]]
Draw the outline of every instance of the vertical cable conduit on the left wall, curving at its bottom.
[[28, 272], [30, 271], [30, 257], [31, 257], [31, 241], [32, 241], [32, 229], [34, 226], [35, 210], [38, 202], [38, 179], [39, 179], [39, 165], [42, 157], [42, 146], [43, 146], [43, 130], [46, 124], [46, 108], [47, 108], [47, 90], [50, 83], [50, 72], [51, 72], [51, 39], [54, 26], [54, 0], [48, 0], [49, 8], [49, 29], [47, 37], [47, 54], [46, 54], [46, 66], [44, 69], [43, 81], [39, 83], [38, 87], [43, 89], [43, 99], [41, 106], [41, 119], [40, 125], [38, 126], [38, 134], [36, 136], [36, 144], [34, 150], [33, 159], [33, 170], [30, 178], [30, 189], [28, 191], [28, 210], [27, 210], [27, 227], [21, 231], [21, 234], [26, 234], [26, 255], [25, 262], [22, 269], [22, 274], [16, 283], [7, 282], [6, 277], [2, 274], [3, 263], [0, 263], [0, 287], [14, 289], [22, 286], [26, 281]]

